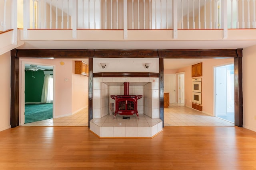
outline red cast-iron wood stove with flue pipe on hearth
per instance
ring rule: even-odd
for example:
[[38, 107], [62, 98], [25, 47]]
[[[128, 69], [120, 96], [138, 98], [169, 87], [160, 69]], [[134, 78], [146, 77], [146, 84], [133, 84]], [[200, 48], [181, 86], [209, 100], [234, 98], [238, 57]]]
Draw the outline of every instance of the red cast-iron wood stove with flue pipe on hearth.
[[111, 95], [110, 97], [116, 101], [116, 109], [113, 119], [115, 119], [117, 113], [120, 115], [136, 114], [138, 119], [140, 119], [137, 109], [137, 101], [142, 98], [142, 95], [129, 95], [129, 82], [124, 82], [124, 95]]

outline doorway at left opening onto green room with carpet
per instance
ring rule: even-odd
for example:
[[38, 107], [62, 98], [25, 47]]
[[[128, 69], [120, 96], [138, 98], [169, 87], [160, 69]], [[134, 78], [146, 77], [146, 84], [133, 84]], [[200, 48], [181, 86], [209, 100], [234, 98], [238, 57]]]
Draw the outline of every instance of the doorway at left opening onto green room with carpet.
[[20, 125], [53, 117], [53, 66], [22, 63]]

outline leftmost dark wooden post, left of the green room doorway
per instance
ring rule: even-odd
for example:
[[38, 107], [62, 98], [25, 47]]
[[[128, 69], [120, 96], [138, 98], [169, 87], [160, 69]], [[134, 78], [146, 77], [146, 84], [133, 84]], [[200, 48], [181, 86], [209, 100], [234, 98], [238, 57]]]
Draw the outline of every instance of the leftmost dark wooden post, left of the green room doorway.
[[11, 127], [19, 125], [19, 80], [20, 80], [20, 60], [15, 58], [16, 49], [11, 51]]

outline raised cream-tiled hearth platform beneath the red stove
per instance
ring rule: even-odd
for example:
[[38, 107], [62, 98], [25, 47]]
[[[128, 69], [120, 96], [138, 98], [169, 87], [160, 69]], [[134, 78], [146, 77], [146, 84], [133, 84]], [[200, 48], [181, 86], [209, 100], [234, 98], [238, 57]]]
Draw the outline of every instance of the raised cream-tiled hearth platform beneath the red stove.
[[[123, 119], [129, 116], [130, 119]], [[106, 115], [101, 119], [90, 121], [90, 130], [99, 137], [153, 137], [162, 131], [162, 120], [152, 119], [144, 114], [136, 115]]]

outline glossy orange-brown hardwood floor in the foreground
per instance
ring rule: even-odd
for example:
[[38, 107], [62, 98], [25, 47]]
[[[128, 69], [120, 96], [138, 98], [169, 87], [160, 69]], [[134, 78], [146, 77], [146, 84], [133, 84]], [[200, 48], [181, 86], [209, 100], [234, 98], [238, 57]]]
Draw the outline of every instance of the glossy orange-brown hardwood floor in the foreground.
[[152, 139], [99, 139], [88, 127], [0, 132], [1, 170], [255, 170], [256, 132], [165, 127]]

